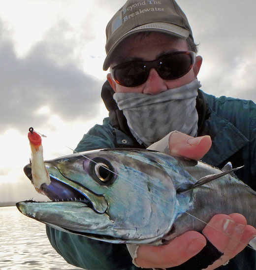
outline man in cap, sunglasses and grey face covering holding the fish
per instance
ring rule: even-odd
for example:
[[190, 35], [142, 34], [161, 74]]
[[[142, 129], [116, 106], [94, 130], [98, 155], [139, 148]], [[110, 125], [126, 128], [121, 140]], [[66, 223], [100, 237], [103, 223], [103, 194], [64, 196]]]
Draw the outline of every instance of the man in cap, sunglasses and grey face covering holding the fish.
[[[245, 165], [237, 175], [255, 189], [256, 105], [217, 99], [198, 90], [202, 58], [196, 56], [192, 30], [177, 3], [128, 0], [109, 22], [106, 34], [103, 69], [110, 67], [111, 73], [101, 96], [109, 118], [84, 135], [76, 151], [153, 147], [218, 167], [231, 161], [235, 167]], [[256, 252], [242, 244], [256, 235], [256, 229], [246, 225], [242, 215], [217, 215], [208, 225], [202, 234], [187, 232], [165, 246], [135, 247], [130, 251], [133, 263], [162, 269], [256, 269]], [[138, 269], [126, 245], [49, 227], [47, 235], [73, 265], [88, 270]], [[206, 256], [207, 264], [201, 264]]]

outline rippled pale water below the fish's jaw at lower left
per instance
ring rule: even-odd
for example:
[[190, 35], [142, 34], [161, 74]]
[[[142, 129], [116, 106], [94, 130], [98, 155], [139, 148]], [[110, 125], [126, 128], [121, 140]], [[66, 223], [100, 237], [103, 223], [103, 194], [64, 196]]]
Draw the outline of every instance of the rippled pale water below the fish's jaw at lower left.
[[15, 206], [0, 207], [0, 270], [81, 270], [51, 246], [45, 225]]

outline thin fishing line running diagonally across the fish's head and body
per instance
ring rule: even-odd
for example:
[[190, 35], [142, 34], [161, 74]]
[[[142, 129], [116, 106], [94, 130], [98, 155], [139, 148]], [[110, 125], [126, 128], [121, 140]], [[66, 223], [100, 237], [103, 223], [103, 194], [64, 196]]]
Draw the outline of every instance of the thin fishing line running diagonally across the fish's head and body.
[[[97, 162], [95, 162], [94, 160], [92, 160], [92, 159], [90, 159], [90, 158], [88, 158], [88, 157], [86, 157], [86, 156], [84, 156], [84, 155], [82, 155], [80, 152], [77, 152], [77, 151], [75, 151], [75, 150], [73, 150], [73, 149], [71, 149], [70, 147], [68, 147], [68, 146], [66, 146], [67, 148], [69, 148], [70, 150], [72, 150], [73, 152], [75, 152], [75, 153], [77, 153], [77, 154], [79, 154], [80, 156], [82, 156], [82, 157], [84, 157], [84, 158], [86, 158], [86, 159], [88, 159], [88, 160], [90, 160], [91, 162], [94, 162], [95, 164], [97, 164], [97, 165], [99, 165], [99, 166], [101, 166], [101, 167], [103, 167], [103, 168], [105, 168], [105, 169], [107, 169], [108, 171], [110, 171], [110, 172], [112, 172], [112, 173], [114, 173], [115, 175], [117, 175], [118, 177], [120, 177], [120, 178], [123, 178], [124, 180], [126, 180], [126, 181], [128, 181], [129, 183], [131, 183], [131, 181], [129, 181], [127, 178], [125, 178], [125, 177], [123, 177], [123, 176], [121, 176], [121, 175], [119, 175], [119, 174], [117, 174], [116, 172], [114, 172], [114, 171], [112, 171], [112, 170], [110, 170], [110, 169], [108, 169], [107, 167], [105, 167], [105, 166], [103, 166], [103, 165], [100, 165], [100, 164], [98, 164]], [[137, 183], [133, 183], [133, 184], [135, 184], [139, 189], [141, 189], [141, 190], [143, 190]], [[144, 190], [143, 190], [144, 191]], [[167, 202], [166, 200], [163, 200], [162, 198], [161, 198], [161, 200], [163, 201], [163, 202]], [[202, 222], [202, 223], [204, 223], [205, 225], [208, 225], [209, 227], [211, 227], [211, 228], [213, 228], [214, 230], [216, 230], [216, 231], [218, 231], [219, 233], [222, 233], [223, 235], [225, 235], [225, 236], [228, 236], [229, 238], [231, 238], [231, 239], [234, 239], [234, 240], [236, 240], [237, 242], [239, 242], [239, 243], [241, 243], [241, 244], [244, 244], [244, 245], [246, 245], [245, 243], [243, 243], [243, 242], [241, 242], [241, 241], [239, 241], [239, 240], [237, 240], [236, 238], [234, 238], [233, 236], [230, 236], [230, 235], [228, 235], [228, 234], [226, 234], [226, 233], [224, 233], [223, 231], [221, 231], [221, 230], [219, 230], [219, 229], [217, 229], [217, 228], [215, 228], [214, 226], [212, 226], [212, 225], [210, 225], [210, 224], [208, 224], [207, 222], [205, 222], [205, 221], [203, 221], [203, 220], [201, 220], [201, 219], [199, 219], [199, 218], [197, 218], [197, 217], [195, 217], [195, 216], [193, 216], [192, 214], [190, 214], [189, 212], [187, 212], [187, 211], [185, 211], [184, 209], [182, 209], [181, 207], [179, 207], [179, 206], [175, 206], [176, 208], [179, 208], [182, 212], [184, 212], [184, 213], [186, 213], [186, 214], [188, 214], [188, 215], [190, 215], [191, 217], [193, 217], [194, 219], [197, 219], [198, 221], [200, 221], [200, 222]], [[250, 247], [251, 249], [253, 249], [253, 250], [255, 250], [256, 251], [256, 249], [254, 249], [253, 247], [251, 247], [250, 245], [246, 245], [246, 246], [248, 246], [248, 247]]]

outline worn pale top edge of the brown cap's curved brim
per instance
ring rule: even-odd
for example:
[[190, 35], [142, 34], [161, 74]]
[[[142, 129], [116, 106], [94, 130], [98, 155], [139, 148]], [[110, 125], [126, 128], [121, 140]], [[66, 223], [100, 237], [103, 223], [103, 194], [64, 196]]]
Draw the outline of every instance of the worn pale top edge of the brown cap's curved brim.
[[139, 27], [136, 27], [132, 30], [130, 30], [128, 33], [122, 35], [110, 48], [106, 59], [103, 64], [103, 70], [107, 70], [110, 66], [110, 60], [112, 58], [113, 52], [116, 49], [116, 47], [123, 41], [125, 38], [127, 38], [131, 34], [139, 33], [139, 32], [146, 32], [146, 31], [154, 31], [154, 32], [161, 32], [166, 34], [171, 34], [183, 39], [187, 39], [190, 35], [190, 32], [182, 27], [179, 27], [177, 25], [168, 24], [168, 23], [150, 23], [145, 24]]

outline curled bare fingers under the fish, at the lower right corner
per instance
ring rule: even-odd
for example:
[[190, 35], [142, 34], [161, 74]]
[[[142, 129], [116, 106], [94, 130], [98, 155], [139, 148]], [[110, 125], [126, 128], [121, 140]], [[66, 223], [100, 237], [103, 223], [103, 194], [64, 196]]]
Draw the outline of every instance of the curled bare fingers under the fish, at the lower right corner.
[[[212, 227], [210, 227], [210, 226]], [[214, 229], [214, 228], [215, 229]], [[215, 269], [241, 252], [256, 235], [241, 214], [215, 215], [203, 230], [203, 235], [224, 255], [207, 270]]]

